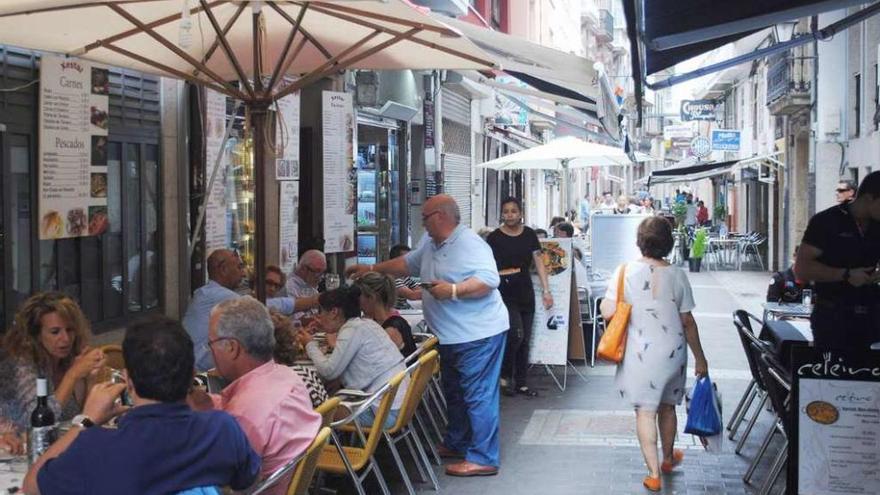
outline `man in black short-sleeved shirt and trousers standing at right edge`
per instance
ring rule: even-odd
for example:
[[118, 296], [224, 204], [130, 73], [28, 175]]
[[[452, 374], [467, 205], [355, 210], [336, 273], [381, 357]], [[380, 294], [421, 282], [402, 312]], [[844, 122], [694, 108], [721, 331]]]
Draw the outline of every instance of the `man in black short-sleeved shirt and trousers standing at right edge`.
[[855, 200], [810, 219], [795, 273], [816, 282], [816, 346], [867, 349], [880, 341], [880, 171]]

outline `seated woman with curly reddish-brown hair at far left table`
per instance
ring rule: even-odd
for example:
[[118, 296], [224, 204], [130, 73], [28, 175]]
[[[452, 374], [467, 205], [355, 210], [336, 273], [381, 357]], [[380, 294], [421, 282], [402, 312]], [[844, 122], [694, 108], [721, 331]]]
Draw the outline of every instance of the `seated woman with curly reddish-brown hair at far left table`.
[[37, 377], [48, 379], [56, 420], [82, 411], [89, 379], [105, 364], [104, 353], [86, 345], [90, 335], [79, 306], [60, 292], [41, 292], [22, 304], [0, 351], [0, 431], [27, 429]]

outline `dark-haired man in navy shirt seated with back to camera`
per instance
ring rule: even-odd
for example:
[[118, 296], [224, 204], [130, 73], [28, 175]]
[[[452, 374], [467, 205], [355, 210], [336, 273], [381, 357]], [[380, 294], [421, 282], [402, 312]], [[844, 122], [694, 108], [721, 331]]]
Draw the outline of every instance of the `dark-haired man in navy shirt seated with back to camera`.
[[[92, 388], [83, 414], [31, 466], [25, 493], [241, 490], [256, 481], [260, 457], [235, 419], [186, 405], [193, 344], [179, 323], [163, 317], [130, 327], [122, 353], [126, 383]], [[125, 390], [133, 399], [131, 409], [116, 403]], [[101, 427], [123, 412], [118, 429]]]

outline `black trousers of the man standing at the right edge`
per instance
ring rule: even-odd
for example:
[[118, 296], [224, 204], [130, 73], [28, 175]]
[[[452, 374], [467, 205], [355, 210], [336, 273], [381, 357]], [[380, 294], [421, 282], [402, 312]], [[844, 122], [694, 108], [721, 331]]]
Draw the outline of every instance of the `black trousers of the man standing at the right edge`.
[[880, 304], [817, 305], [810, 317], [813, 342], [826, 349], [867, 350], [880, 342]]

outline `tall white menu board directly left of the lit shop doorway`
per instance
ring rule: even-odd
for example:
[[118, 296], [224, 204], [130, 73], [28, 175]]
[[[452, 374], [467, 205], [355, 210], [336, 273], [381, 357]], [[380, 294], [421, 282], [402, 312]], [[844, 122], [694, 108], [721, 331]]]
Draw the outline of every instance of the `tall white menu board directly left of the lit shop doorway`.
[[356, 173], [355, 123], [351, 95], [323, 92], [324, 252], [354, 250]]

